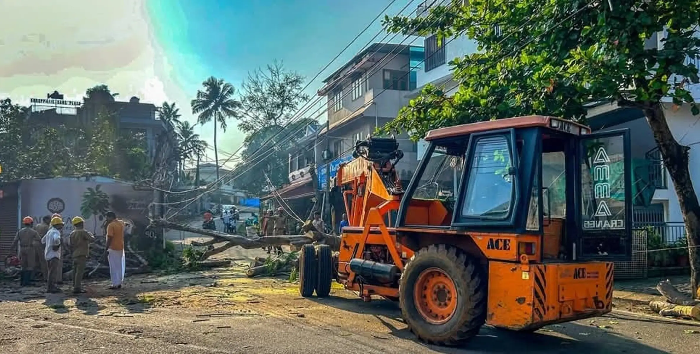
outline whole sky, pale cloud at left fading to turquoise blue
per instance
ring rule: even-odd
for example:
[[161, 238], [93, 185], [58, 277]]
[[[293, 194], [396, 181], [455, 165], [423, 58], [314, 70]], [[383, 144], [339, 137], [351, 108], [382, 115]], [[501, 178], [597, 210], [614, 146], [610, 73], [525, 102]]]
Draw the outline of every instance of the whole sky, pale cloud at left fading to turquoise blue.
[[[239, 87], [248, 72], [281, 60], [311, 79], [390, 2], [0, 0], [0, 97], [27, 104], [58, 90], [80, 100], [85, 89], [106, 83], [120, 100], [176, 102], [183, 118], [195, 121], [189, 102], [208, 76]], [[408, 2], [395, 1], [386, 13]], [[311, 83], [309, 94], [380, 30], [377, 21]], [[211, 143], [211, 126], [198, 129]], [[224, 156], [243, 139], [235, 124], [219, 136]]]

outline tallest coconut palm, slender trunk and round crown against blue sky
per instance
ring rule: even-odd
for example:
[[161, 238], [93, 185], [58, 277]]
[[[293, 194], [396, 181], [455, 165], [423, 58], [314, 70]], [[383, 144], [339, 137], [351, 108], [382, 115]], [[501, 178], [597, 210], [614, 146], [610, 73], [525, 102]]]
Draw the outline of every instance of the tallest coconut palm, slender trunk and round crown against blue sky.
[[216, 130], [226, 131], [226, 120], [238, 118], [237, 110], [241, 102], [233, 98], [235, 88], [223, 79], [209, 77], [202, 83], [204, 90], [197, 90], [197, 96], [190, 105], [192, 113], [197, 114], [200, 125], [214, 121], [214, 161], [216, 163], [216, 180], [219, 179], [218, 147], [216, 145]]

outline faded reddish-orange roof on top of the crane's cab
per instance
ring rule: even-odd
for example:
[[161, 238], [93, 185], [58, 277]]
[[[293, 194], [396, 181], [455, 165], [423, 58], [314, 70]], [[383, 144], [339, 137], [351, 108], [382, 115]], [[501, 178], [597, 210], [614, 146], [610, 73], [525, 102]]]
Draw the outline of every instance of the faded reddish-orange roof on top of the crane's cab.
[[468, 135], [472, 132], [485, 132], [487, 130], [498, 130], [507, 128], [528, 128], [528, 127], [549, 127], [549, 121], [558, 119], [574, 124], [577, 127], [591, 131], [586, 125], [568, 121], [561, 118], [549, 116], [523, 116], [514, 118], [496, 119], [495, 121], [484, 121], [478, 123], [468, 123], [462, 125], [454, 125], [451, 127], [437, 128], [430, 130], [426, 134], [426, 140], [442, 139], [444, 137], [457, 137], [460, 135]]

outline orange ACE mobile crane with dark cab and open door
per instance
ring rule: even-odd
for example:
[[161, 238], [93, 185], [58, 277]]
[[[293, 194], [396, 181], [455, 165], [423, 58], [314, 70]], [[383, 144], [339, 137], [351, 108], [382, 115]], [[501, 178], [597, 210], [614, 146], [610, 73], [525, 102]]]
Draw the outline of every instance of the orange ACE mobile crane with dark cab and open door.
[[300, 292], [335, 278], [399, 301], [423, 341], [482, 325], [533, 331], [612, 308], [612, 261], [631, 256], [629, 130], [591, 133], [524, 116], [431, 130], [404, 189], [393, 138], [358, 142], [333, 193], [349, 218], [339, 252], [305, 245]]

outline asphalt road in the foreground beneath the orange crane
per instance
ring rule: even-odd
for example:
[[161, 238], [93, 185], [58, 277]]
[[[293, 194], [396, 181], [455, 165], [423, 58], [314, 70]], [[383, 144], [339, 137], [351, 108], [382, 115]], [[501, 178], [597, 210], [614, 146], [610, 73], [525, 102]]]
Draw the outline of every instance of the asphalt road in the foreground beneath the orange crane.
[[[105, 306], [93, 311], [90, 301], [1, 302], [0, 353], [700, 353], [700, 334], [684, 332], [700, 326], [619, 313], [533, 334], [486, 327], [463, 348], [443, 348], [416, 341], [388, 301], [328, 299], [318, 311], [299, 306], [303, 317], [255, 305], [222, 316], [207, 315], [216, 308], [117, 308], [105, 315]], [[367, 320], [353, 315], [344, 322], [346, 306]]]

